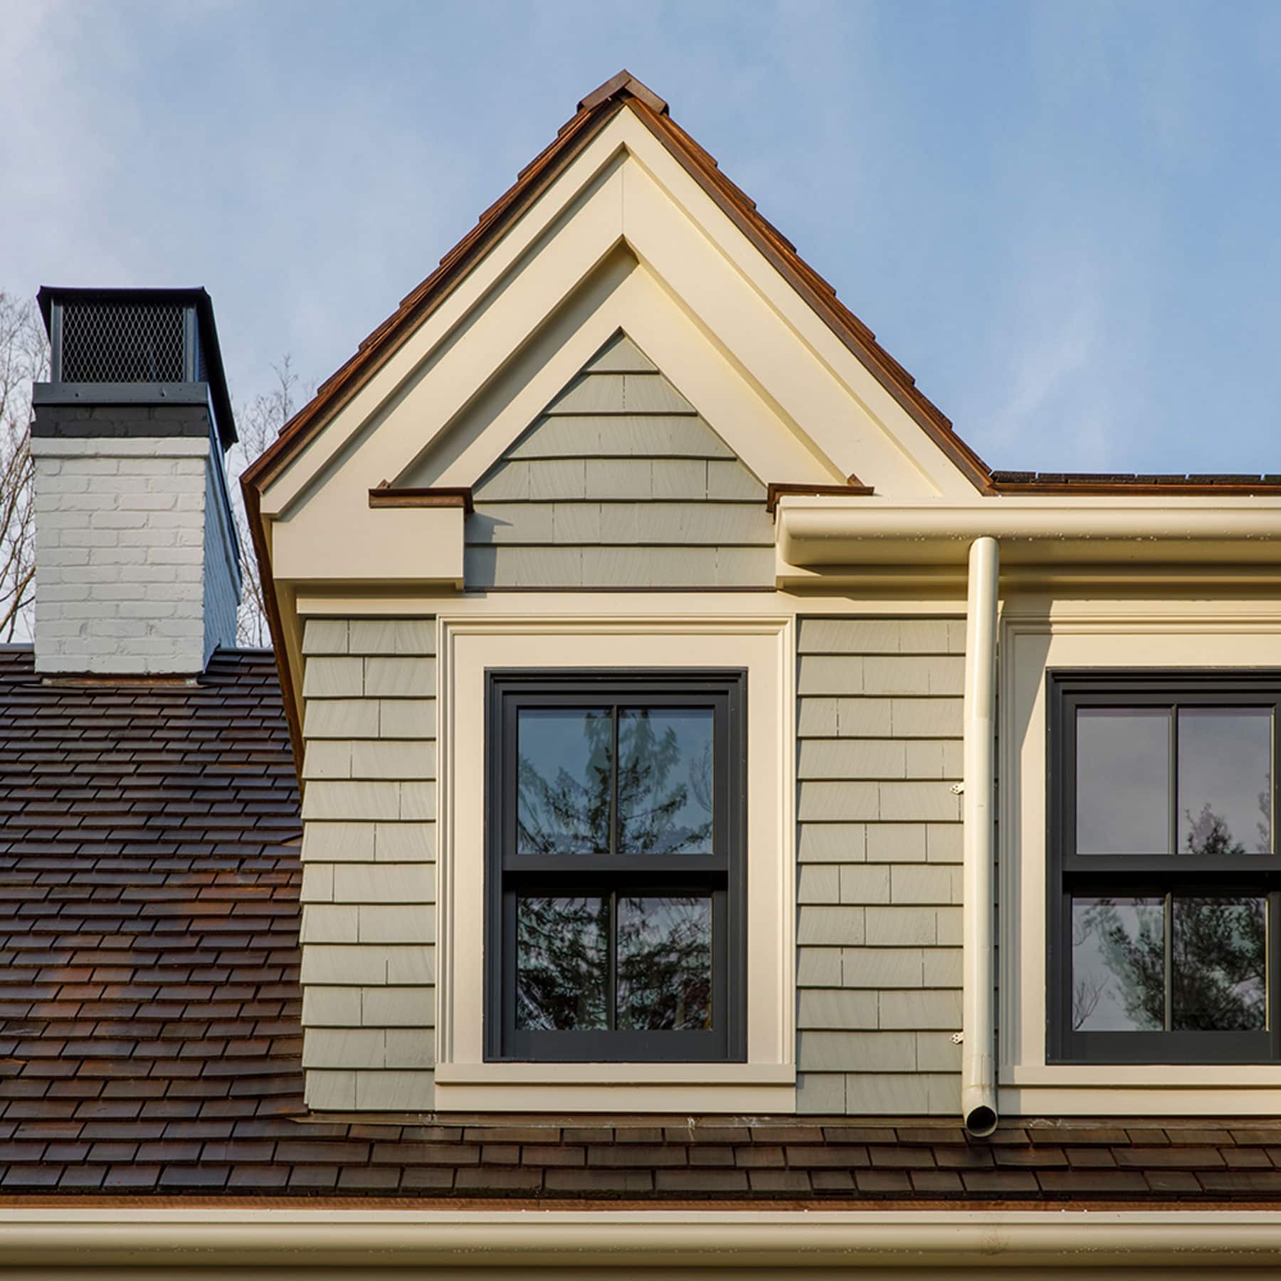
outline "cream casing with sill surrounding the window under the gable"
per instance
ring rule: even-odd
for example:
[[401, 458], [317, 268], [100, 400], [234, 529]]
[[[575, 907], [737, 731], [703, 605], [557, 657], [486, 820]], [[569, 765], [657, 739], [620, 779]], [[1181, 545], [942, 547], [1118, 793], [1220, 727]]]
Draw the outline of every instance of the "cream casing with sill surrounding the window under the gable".
[[[796, 1109], [794, 620], [442, 616], [436, 1107], [439, 1111]], [[484, 1061], [484, 698], [491, 669], [747, 671], [747, 1061]]]

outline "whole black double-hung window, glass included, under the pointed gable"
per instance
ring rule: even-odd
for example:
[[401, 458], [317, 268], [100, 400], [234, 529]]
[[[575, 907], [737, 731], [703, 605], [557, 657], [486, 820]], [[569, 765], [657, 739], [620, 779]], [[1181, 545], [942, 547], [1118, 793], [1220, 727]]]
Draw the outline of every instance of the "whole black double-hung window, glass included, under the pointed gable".
[[746, 674], [487, 689], [487, 1058], [742, 1061]]

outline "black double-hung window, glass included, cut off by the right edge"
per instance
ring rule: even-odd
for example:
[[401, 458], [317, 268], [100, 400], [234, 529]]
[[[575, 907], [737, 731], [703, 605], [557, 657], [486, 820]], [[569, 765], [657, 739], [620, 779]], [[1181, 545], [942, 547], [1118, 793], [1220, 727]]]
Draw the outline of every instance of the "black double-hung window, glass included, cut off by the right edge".
[[1281, 675], [1049, 693], [1050, 1062], [1276, 1059]]

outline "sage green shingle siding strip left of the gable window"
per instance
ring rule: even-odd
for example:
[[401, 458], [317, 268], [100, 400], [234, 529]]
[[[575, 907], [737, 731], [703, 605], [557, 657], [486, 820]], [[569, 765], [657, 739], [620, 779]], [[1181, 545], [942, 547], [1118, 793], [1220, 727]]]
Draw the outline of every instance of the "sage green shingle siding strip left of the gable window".
[[432, 1107], [436, 629], [304, 632], [302, 1066], [307, 1102]]

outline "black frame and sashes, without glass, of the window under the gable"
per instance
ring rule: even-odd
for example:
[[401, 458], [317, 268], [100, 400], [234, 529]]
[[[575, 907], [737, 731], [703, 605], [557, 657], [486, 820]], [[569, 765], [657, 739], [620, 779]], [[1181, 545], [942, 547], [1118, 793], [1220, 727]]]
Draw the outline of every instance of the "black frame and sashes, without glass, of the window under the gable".
[[[521, 707], [714, 708], [710, 854], [516, 853], [516, 714]], [[487, 1062], [737, 1063], [747, 1061], [746, 669], [485, 670], [484, 1054]], [[614, 833], [611, 829], [611, 842]], [[516, 894], [629, 890], [710, 895], [712, 1027], [518, 1029]], [[614, 1011], [612, 949], [610, 1011]]]

